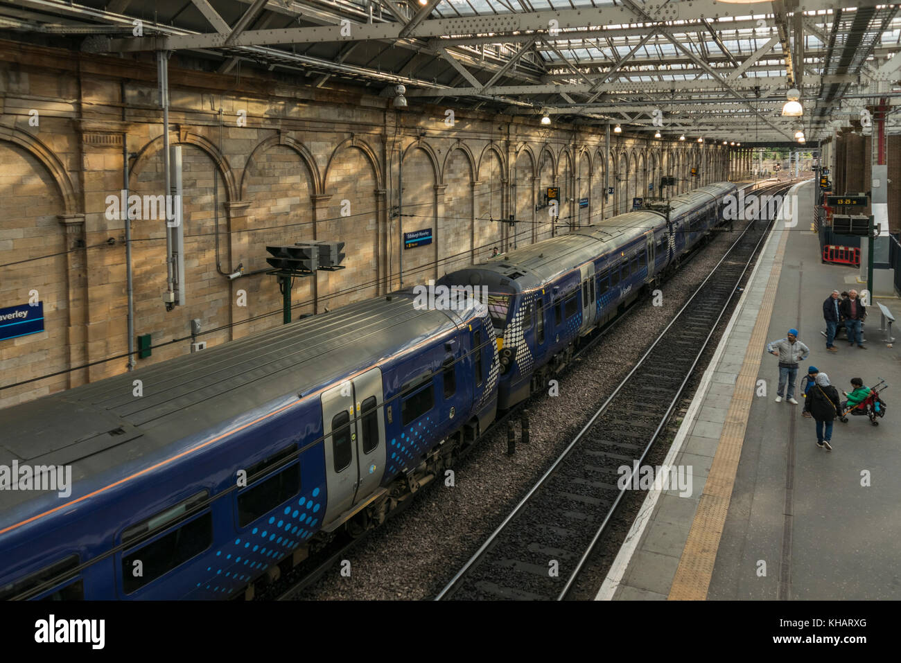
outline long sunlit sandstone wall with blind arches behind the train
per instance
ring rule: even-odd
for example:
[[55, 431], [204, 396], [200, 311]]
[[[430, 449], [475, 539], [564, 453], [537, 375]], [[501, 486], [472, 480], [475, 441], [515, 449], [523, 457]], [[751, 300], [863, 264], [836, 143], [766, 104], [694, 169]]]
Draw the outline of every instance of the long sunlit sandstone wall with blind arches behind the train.
[[[355, 88], [202, 68], [169, 63], [187, 295], [172, 311], [165, 221], [132, 219], [134, 331], [159, 345], [139, 367], [187, 353], [195, 318], [211, 345], [281, 324], [275, 277], [252, 274], [268, 267], [268, 245], [346, 242], [345, 269], [296, 279], [296, 318], [625, 212], [661, 174], [681, 192], [726, 173], [712, 144], [616, 135], [607, 164], [596, 128], [456, 108], [449, 126], [444, 106], [397, 113]], [[144, 55], [0, 41], [0, 308], [37, 290], [45, 311], [44, 332], [0, 341], [0, 386], [61, 372], [0, 389], [0, 407], [127, 369], [124, 221], [107, 199], [123, 189], [123, 143], [129, 194], [165, 193], [156, 76]], [[548, 186], [560, 187], [560, 218], [536, 210]], [[402, 248], [403, 232], [423, 229], [432, 244]], [[229, 280], [239, 264], [251, 274]]]

